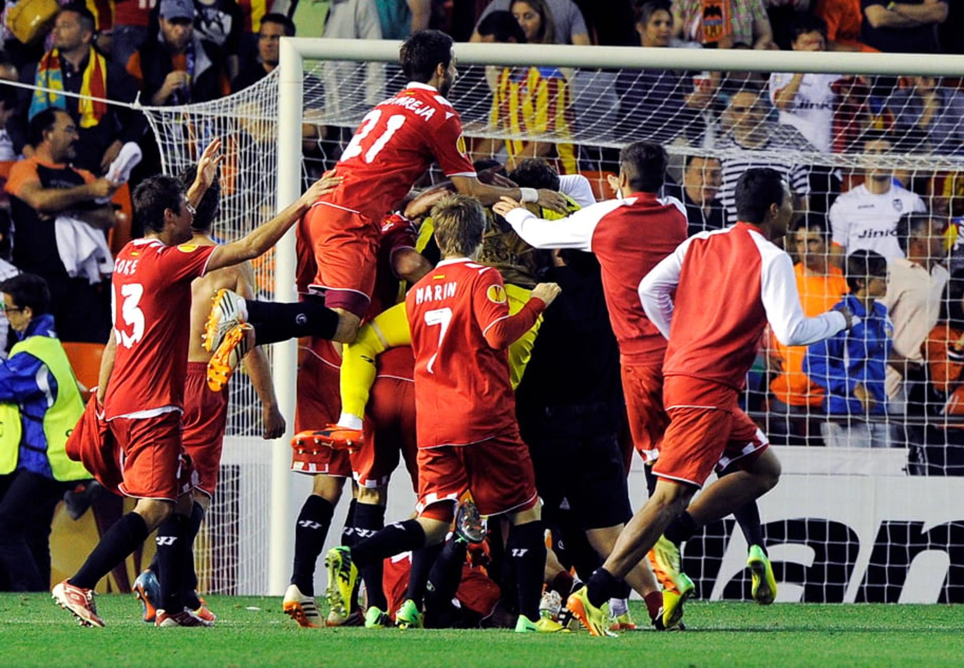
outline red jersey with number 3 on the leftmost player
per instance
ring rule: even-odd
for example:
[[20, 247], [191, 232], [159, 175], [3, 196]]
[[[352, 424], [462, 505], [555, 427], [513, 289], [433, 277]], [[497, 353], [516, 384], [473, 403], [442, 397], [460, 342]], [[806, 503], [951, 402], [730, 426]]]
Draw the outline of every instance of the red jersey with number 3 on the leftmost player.
[[111, 281], [117, 355], [107, 419], [183, 408], [191, 281], [204, 275], [215, 248], [135, 239], [121, 249]]

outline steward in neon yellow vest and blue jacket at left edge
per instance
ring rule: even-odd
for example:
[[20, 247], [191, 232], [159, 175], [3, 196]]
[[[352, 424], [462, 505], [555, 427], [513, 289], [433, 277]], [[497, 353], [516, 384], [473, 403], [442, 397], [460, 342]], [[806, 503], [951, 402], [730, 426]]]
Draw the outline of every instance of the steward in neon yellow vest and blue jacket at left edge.
[[17, 336], [10, 359], [0, 361], [0, 475], [10, 476], [0, 493], [0, 570], [12, 591], [44, 592], [54, 509], [67, 483], [91, 477], [65, 451], [84, 402], [43, 279], [21, 274], [0, 283], [0, 291]]

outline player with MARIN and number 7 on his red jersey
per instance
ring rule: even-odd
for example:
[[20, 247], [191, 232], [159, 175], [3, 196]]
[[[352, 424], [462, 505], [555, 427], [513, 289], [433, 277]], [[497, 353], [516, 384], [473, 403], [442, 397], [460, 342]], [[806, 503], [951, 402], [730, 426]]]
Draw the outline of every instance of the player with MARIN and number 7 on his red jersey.
[[505, 349], [532, 327], [559, 288], [536, 285], [529, 302], [510, 316], [502, 277], [469, 259], [485, 227], [478, 200], [451, 196], [432, 215], [442, 261], [406, 298], [415, 353], [419, 516], [352, 548], [330, 550], [329, 601], [345, 609], [358, 570], [375, 559], [442, 543], [456, 501], [469, 490], [481, 514], [504, 514], [513, 524], [507, 549], [519, 583], [517, 630], [558, 630], [539, 619], [546, 544]]

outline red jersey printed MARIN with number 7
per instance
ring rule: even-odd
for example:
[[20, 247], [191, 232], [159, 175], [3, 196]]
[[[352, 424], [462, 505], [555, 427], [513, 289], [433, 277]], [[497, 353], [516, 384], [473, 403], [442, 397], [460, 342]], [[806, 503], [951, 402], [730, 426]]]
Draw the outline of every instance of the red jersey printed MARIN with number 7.
[[485, 332], [509, 317], [498, 271], [443, 260], [406, 297], [415, 352], [418, 447], [485, 441], [518, 431], [505, 350]]

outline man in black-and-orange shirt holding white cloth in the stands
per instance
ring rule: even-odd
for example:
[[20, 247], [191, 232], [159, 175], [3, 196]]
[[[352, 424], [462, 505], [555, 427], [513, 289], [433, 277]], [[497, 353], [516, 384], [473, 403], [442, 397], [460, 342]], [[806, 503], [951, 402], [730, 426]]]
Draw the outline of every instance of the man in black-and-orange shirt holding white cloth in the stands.
[[[96, 178], [68, 163], [75, 155], [77, 126], [63, 109], [44, 109], [30, 121], [28, 141], [34, 154], [11, 170], [6, 190], [11, 196], [13, 264], [47, 281], [50, 312], [65, 341], [107, 340], [110, 328], [107, 296], [84, 274], [71, 277], [65, 259], [76, 264], [76, 253], [57, 243], [55, 219], [71, 224], [92, 244], [104, 243], [101, 230], [114, 225], [114, 209], [98, 204], [117, 184]], [[73, 261], [71, 261], [73, 260]]]

